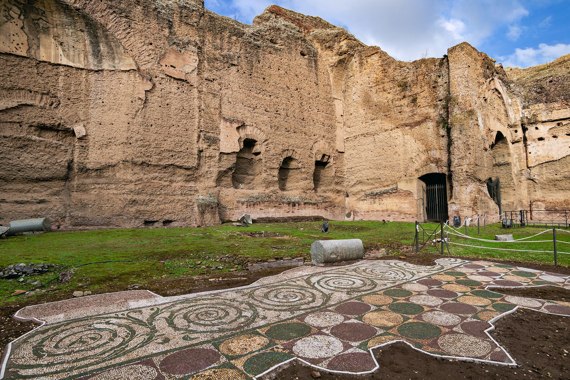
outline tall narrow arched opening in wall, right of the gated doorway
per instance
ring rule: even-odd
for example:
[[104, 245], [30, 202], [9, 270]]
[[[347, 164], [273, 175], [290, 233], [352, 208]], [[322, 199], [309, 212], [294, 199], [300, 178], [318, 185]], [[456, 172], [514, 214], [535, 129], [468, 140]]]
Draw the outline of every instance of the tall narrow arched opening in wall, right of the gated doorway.
[[512, 176], [511, 148], [507, 138], [498, 131], [491, 145], [493, 157], [492, 177], [487, 181], [489, 196], [503, 209], [514, 209], [516, 204], [515, 180]]

